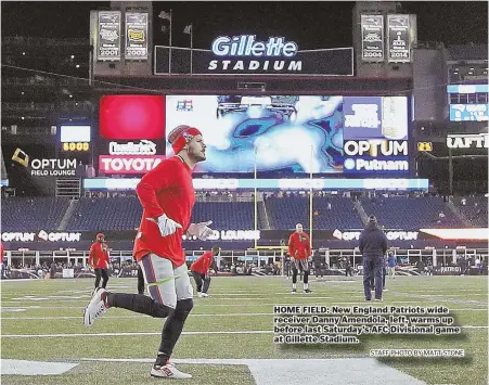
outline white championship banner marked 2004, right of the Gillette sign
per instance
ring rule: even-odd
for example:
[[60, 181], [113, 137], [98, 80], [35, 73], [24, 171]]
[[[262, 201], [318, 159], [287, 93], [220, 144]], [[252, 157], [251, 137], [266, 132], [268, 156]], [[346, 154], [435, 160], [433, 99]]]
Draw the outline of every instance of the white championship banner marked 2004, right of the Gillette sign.
[[384, 61], [384, 16], [361, 15], [362, 61]]

